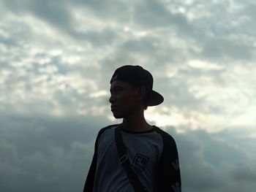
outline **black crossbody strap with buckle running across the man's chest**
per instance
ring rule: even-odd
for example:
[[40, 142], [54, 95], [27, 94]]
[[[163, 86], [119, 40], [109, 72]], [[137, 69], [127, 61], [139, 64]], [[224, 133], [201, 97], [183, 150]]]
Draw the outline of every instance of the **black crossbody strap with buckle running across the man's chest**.
[[115, 129], [115, 141], [120, 164], [124, 167], [124, 170], [127, 173], [129, 181], [132, 184], [132, 187], [134, 188], [135, 192], [146, 192], [146, 189], [140, 183], [138, 176], [133, 171], [132, 166], [129, 162], [127, 150], [124, 147], [123, 138], [121, 136], [121, 124], [119, 124]]

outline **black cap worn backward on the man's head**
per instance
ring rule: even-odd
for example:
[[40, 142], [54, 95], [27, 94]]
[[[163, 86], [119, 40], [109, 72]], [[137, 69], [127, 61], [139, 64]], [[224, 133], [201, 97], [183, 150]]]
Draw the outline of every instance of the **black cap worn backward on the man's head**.
[[125, 65], [121, 66], [114, 72], [110, 84], [114, 80], [129, 82], [131, 84], [145, 86], [147, 89], [146, 105], [156, 106], [164, 101], [163, 96], [153, 90], [153, 76], [142, 66]]

